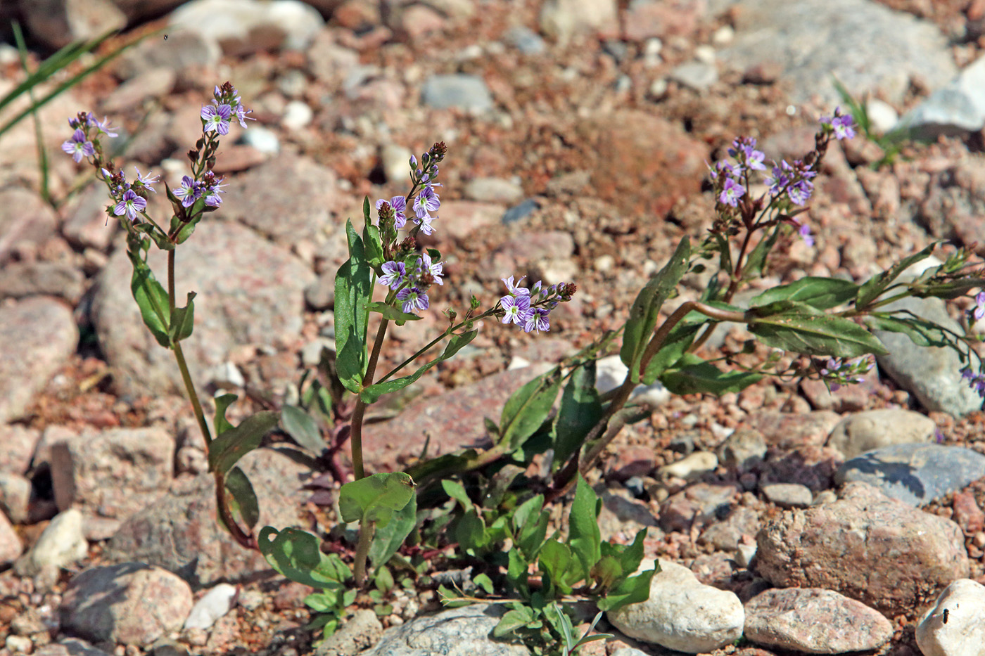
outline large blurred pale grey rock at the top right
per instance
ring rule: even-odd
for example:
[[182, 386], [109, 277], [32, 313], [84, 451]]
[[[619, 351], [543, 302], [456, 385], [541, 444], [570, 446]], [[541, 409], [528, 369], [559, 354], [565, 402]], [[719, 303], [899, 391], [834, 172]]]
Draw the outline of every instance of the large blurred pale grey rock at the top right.
[[719, 53], [745, 71], [765, 62], [782, 67], [791, 99], [841, 98], [831, 76], [854, 98], [903, 98], [910, 80], [934, 90], [955, 74], [948, 39], [932, 23], [860, 0], [741, 0], [733, 44]]

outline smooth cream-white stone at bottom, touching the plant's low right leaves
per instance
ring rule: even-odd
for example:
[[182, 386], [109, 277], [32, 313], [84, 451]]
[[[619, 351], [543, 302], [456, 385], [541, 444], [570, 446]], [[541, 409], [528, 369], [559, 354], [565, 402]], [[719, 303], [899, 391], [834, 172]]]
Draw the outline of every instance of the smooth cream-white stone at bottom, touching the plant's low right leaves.
[[[654, 560], [639, 571], [653, 568]], [[734, 592], [697, 580], [688, 567], [660, 560], [650, 598], [607, 613], [609, 622], [637, 640], [690, 654], [714, 651], [742, 637], [746, 612]]]

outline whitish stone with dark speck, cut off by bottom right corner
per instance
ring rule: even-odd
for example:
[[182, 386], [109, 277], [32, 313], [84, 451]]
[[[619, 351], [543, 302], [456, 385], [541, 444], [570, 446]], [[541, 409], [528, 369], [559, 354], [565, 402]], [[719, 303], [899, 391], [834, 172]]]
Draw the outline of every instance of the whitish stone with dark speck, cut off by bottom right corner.
[[916, 630], [924, 656], [985, 653], [985, 585], [961, 578], [944, 589]]

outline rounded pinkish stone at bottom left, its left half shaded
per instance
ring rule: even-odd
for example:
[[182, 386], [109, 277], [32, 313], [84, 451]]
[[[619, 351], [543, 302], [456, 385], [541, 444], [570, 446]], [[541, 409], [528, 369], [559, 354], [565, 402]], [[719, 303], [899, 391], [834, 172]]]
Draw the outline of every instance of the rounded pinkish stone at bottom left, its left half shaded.
[[63, 628], [96, 642], [146, 646], [181, 628], [191, 609], [191, 588], [179, 577], [143, 562], [124, 562], [73, 578], [61, 618]]

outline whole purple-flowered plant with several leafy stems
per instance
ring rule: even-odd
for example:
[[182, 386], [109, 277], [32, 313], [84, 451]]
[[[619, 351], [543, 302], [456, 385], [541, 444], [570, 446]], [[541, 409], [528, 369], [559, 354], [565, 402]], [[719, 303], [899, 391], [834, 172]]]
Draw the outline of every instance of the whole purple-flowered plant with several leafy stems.
[[[985, 366], [972, 348], [977, 340], [890, 306], [907, 296], [955, 298], [978, 290], [968, 322], [985, 317], [985, 280], [982, 269], [969, 264], [967, 249], [914, 278], [901, 274], [930, 257], [937, 244], [862, 283], [806, 277], [755, 295], [749, 307], [733, 304], [737, 293], [768, 270], [777, 244], [794, 238], [814, 244], [807, 219], [814, 180], [831, 141], [850, 139], [855, 132], [852, 117], [836, 109], [821, 119], [814, 149], [800, 160], [767, 162], [755, 139], [736, 139], [727, 149], [728, 158], [709, 166], [717, 217], [704, 238], [693, 246], [689, 237], [680, 241], [666, 266], [636, 296], [621, 331], [600, 336], [527, 382], [507, 400], [498, 422], [487, 419], [490, 446], [435, 458], [422, 454], [406, 472], [367, 476], [362, 427], [368, 406], [455, 356], [475, 339], [483, 319], [495, 318], [503, 327], [525, 333], [550, 331], [551, 312], [577, 290], [573, 283], [525, 285], [525, 277], [505, 277], [505, 293], [493, 296], [487, 309], [481, 309], [476, 296], [461, 314], [445, 309], [447, 325], [437, 336], [377, 374], [387, 332], [434, 311], [432, 296], [451, 273], [437, 249], [421, 248], [417, 241], [420, 233], [441, 227], [439, 165], [447, 148], [435, 143], [420, 160], [410, 159], [406, 194], [374, 204], [366, 198], [361, 230], [352, 221], [346, 224], [349, 259], [335, 281], [336, 348], [334, 354], [323, 354], [319, 373], [324, 375], [304, 389], [304, 407], [285, 405], [282, 413], [260, 412], [231, 426], [226, 410], [235, 396], [221, 396], [215, 399], [213, 437], [181, 349], [192, 333], [195, 294], [188, 293], [185, 305], [177, 305], [175, 252], [207, 214], [221, 208], [223, 178], [212, 170], [219, 142], [233, 123], [245, 128], [252, 120], [249, 113], [229, 83], [216, 87], [212, 102], [201, 110], [202, 135], [188, 153], [189, 173], [177, 189], [164, 184], [172, 209], [166, 223], [147, 213], [149, 194], [158, 193], [157, 178], [139, 170], [128, 178], [106, 160], [102, 140], [113, 136], [106, 119], [99, 121], [92, 113], [71, 119], [72, 134], [63, 150], [76, 162], [95, 167], [111, 198], [106, 212], [126, 230], [131, 290], [144, 323], [173, 352], [181, 371], [207, 444], [219, 521], [240, 545], [258, 549], [279, 572], [318, 590], [305, 603], [319, 614], [311, 626], [325, 635], [370, 584], [376, 589], [367, 596], [385, 612], [385, 596], [395, 585], [391, 565], [420, 581], [429, 558], [437, 555], [448, 564], [469, 563], [479, 570], [471, 581], [474, 593], [440, 589], [447, 604], [482, 599], [507, 605], [494, 633], [518, 636], [536, 653], [567, 653], [592, 639], [575, 639], [566, 604], [572, 599], [588, 599], [600, 611], [645, 600], [655, 572], [636, 572], [644, 533], [630, 545], [602, 542], [600, 501], [586, 483], [622, 427], [648, 416], [645, 407], [630, 403], [640, 383], [659, 380], [678, 394], [723, 394], [769, 375], [820, 379], [835, 389], [858, 382], [872, 367], [872, 356], [886, 353], [874, 331], [888, 331], [903, 333], [920, 346], [955, 349], [965, 364], [962, 376], [985, 396]], [[765, 191], [755, 193], [762, 188], [760, 181]], [[166, 289], [147, 263], [152, 245], [167, 252]], [[718, 273], [700, 297], [681, 302], [661, 320], [663, 306], [682, 278], [714, 262]], [[379, 317], [370, 339], [371, 313]], [[771, 348], [770, 355], [755, 365], [739, 358], [755, 352], [751, 342], [743, 354], [725, 353], [714, 360], [698, 356], [721, 322], [745, 325], [756, 341]], [[595, 387], [596, 361], [619, 338], [628, 372], [622, 385], [601, 394]], [[431, 354], [439, 346], [440, 353]], [[795, 359], [784, 363], [787, 354]], [[973, 360], [977, 366], [971, 365]], [[268, 526], [254, 536], [256, 495], [235, 465], [279, 421], [302, 445], [316, 451], [325, 446], [328, 466], [340, 482], [346, 472], [334, 454], [348, 441], [354, 480], [342, 485], [338, 512], [341, 521], [359, 523], [354, 549], [326, 554], [319, 536], [296, 528]], [[330, 427], [322, 429], [325, 424]], [[325, 433], [331, 438], [328, 445]], [[538, 455], [546, 456], [543, 479], [529, 474]], [[571, 488], [575, 492], [567, 530], [548, 535], [546, 505]]]

